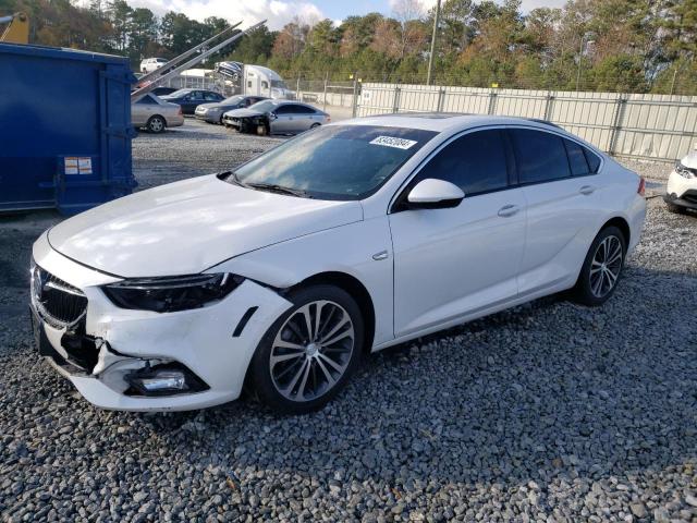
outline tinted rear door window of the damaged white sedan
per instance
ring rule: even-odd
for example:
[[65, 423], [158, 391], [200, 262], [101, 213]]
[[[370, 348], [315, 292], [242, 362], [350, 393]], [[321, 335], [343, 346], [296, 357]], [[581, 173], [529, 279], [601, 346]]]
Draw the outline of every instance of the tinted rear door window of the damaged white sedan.
[[571, 177], [561, 136], [530, 129], [512, 129], [509, 133], [521, 183], [551, 182]]

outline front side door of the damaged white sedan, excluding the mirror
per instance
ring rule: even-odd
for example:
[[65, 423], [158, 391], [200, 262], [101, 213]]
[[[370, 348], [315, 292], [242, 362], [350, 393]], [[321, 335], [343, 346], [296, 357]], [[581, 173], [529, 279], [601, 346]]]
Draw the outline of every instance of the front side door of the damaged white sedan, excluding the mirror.
[[407, 185], [445, 180], [465, 197], [454, 208], [395, 207], [389, 215], [396, 337], [516, 297], [526, 204], [512, 186], [513, 165], [502, 130], [476, 131], [441, 147]]

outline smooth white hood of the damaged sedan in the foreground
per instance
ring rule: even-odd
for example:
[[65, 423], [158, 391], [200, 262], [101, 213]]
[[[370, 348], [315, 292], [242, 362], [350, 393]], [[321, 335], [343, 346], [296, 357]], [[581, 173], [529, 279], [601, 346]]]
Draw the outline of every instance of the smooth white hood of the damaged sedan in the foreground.
[[255, 191], [209, 175], [87, 210], [53, 227], [48, 240], [59, 253], [111, 275], [173, 276], [362, 219], [359, 202]]

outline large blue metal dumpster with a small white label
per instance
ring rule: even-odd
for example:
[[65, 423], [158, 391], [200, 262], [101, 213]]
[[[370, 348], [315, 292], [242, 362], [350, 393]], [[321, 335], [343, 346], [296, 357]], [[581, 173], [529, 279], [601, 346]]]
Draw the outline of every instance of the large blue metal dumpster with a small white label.
[[130, 194], [134, 80], [123, 57], [0, 44], [0, 211]]

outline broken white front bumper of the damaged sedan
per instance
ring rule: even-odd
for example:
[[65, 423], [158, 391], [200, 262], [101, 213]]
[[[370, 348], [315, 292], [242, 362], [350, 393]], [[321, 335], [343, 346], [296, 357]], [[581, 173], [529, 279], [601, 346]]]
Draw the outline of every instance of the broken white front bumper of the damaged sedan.
[[[44, 343], [50, 345], [41, 352], [82, 396], [103, 409], [178, 411], [239, 398], [259, 340], [291, 306], [273, 290], [245, 280], [224, 300], [201, 308], [166, 314], [123, 309], [113, 305], [100, 289], [118, 278], [61, 255], [49, 245], [46, 233], [34, 244], [33, 254], [37, 265], [87, 296], [81, 335], [88, 341], [86, 350], [91, 350], [94, 343], [94, 350], [98, 351], [97, 364], [94, 368], [74, 365], [66, 350], [69, 329], [47, 323], [39, 324], [36, 333], [37, 341], [44, 337]], [[235, 332], [252, 307], [257, 308], [244, 328]], [[206, 390], [159, 397], [133, 394], [126, 376], [148, 364], [163, 363], [183, 365], [206, 385]]]

